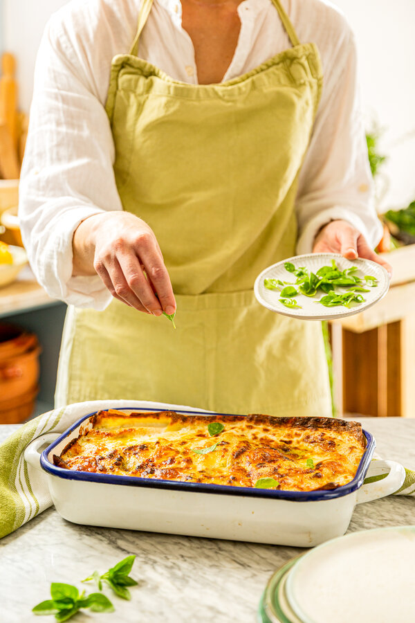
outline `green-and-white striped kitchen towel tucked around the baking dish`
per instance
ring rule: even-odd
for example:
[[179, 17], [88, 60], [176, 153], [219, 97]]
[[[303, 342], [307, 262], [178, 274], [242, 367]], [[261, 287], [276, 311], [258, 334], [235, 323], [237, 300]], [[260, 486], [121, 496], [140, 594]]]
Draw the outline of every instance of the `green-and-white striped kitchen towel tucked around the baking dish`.
[[[46, 433], [64, 433], [66, 428], [89, 413], [106, 408], [165, 408], [197, 410], [190, 406], [160, 402], [111, 400], [89, 401], [55, 409], [30, 420], [0, 445], [0, 538], [42, 513], [52, 505], [46, 473], [24, 460], [26, 446]], [[205, 412], [206, 413], [206, 412]], [[380, 458], [380, 457], [378, 457]], [[369, 476], [367, 481], [380, 480], [386, 474]], [[415, 471], [406, 469], [406, 478], [398, 495], [415, 495]]]

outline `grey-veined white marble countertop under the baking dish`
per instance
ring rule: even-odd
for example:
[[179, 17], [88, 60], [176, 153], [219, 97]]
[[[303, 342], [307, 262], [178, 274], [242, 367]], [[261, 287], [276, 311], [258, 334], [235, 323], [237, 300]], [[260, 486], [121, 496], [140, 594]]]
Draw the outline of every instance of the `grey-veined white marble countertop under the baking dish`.
[[[356, 418], [357, 419], [357, 418]], [[361, 418], [383, 458], [415, 468], [415, 419]], [[0, 426], [0, 441], [16, 426]], [[389, 496], [356, 507], [349, 532], [415, 524], [415, 499]], [[50, 582], [83, 585], [136, 554], [131, 602], [110, 597], [116, 613], [78, 613], [74, 623], [248, 623], [270, 575], [306, 550], [257, 543], [113, 530], [68, 523], [48, 509], [0, 541], [0, 620], [52, 623], [30, 610], [50, 598]], [[89, 592], [93, 592], [93, 585]]]

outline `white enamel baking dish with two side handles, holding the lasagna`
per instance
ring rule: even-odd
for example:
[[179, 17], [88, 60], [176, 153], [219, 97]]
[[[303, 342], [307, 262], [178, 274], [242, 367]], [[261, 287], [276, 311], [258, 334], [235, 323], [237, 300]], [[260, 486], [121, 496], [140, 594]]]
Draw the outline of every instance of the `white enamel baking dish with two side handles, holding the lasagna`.
[[[194, 411], [177, 413], [201, 415]], [[386, 478], [363, 484], [376, 446], [367, 431], [367, 446], [355, 478], [329, 491], [230, 487], [56, 467], [53, 454], [59, 455], [77, 437], [82, 422], [91, 415], [82, 417], [62, 435], [49, 433], [38, 437], [25, 451], [25, 459], [48, 474], [50, 496], [57, 512], [73, 523], [311, 547], [344, 534], [356, 504], [393, 493], [405, 478], [402, 465], [379, 460], [374, 462], [376, 473], [387, 473]], [[47, 443], [50, 445], [41, 453]]]

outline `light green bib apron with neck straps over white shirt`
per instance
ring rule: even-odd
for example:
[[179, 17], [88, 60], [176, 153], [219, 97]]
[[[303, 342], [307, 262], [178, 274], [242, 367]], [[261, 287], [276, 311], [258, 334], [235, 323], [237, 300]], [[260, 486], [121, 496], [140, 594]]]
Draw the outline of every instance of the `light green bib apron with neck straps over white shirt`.
[[173, 80], [138, 54], [113, 59], [107, 113], [124, 210], [153, 229], [177, 302], [164, 316], [113, 300], [68, 310], [57, 405], [145, 399], [223, 413], [331, 415], [320, 323], [256, 302], [257, 274], [295, 254], [295, 194], [322, 89], [313, 43], [220, 84]]

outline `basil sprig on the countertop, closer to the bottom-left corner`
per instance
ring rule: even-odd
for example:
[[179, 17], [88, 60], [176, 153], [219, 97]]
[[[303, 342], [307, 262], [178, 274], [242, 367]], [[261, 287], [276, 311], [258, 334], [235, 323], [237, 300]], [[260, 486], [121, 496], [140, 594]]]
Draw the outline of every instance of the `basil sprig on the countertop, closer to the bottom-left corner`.
[[89, 608], [93, 612], [113, 612], [114, 606], [108, 597], [102, 593], [91, 593], [84, 597], [85, 591], [81, 594], [76, 586], [72, 584], [61, 584], [53, 582], [50, 584], [50, 597], [44, 602], [40, 602], [32, 612], [35, 615], [55, 615], [59, 622], [71, 619], [81, 608]]

